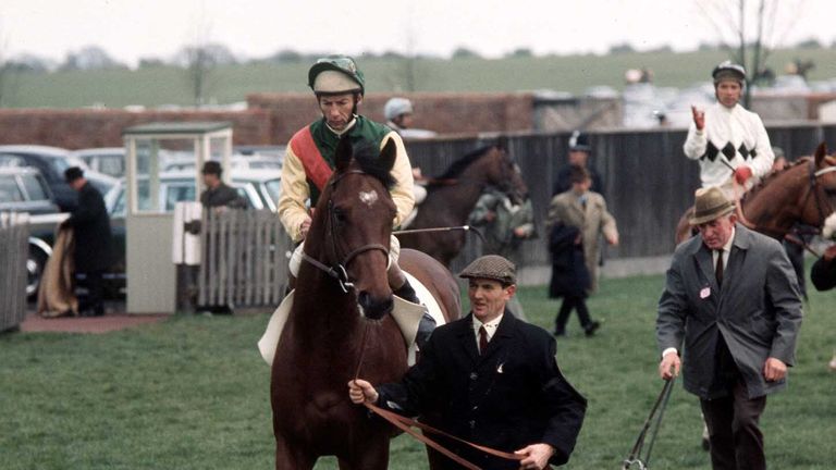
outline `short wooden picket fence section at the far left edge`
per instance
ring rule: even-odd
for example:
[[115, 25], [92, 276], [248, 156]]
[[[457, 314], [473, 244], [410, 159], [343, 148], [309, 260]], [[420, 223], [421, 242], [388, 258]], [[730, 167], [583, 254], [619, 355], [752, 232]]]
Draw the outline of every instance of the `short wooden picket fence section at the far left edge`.
[[27, 213], [0, 213], [0, 332], [26, 317]]

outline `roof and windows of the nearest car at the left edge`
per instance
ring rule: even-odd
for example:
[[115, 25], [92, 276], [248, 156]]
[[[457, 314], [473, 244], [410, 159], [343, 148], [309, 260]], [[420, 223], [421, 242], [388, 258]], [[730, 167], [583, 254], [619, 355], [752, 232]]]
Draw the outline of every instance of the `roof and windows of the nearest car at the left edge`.
[[47, 182], [30, 168], [0, 168], [0, 212], [58, 212]]

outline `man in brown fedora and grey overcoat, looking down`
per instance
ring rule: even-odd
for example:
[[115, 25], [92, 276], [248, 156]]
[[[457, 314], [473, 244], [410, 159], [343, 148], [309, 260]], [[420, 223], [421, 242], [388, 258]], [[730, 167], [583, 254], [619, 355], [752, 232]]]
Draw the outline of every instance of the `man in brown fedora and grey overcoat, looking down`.
[[690, 223], [700, 236], [676, 248], [656, 318], [659, 373], [669, 380], [684, 367], [715, 470], [766, 468], [758, 420], [766, 395], [787, 385], [801, 325], [798, 282], [780, 244], [736, 222], [720, 188], [697, 190]]

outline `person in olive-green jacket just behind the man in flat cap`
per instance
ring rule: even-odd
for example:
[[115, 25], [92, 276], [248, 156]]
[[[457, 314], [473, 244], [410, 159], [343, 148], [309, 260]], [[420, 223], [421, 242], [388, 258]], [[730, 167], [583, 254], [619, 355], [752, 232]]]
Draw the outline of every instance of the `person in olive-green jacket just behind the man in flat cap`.
[[[526, 198], [524, 202], [515, 205], [505, 193], [496, 188], [488, 188], [479, 197], [468, 223], [483, 228], [483, 255], [499, 255], [514, 263], [520, 261], [520, 244], [536, 236], [531, 199]], [[522, 305], [516, 296], [508, 300], [508, 310], [516, 318], [525, 320]]]

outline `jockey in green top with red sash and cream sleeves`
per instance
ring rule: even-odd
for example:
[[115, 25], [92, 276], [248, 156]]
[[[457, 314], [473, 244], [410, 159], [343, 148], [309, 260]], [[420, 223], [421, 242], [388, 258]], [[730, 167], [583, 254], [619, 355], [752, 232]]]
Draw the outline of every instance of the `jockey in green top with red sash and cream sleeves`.
[[[334, 168], [334, 153], [340, 139], [346, 136], [352, 143], [368, 140], [380, 148], [393, 140], [397, 157], [392, 166], [395, 185], [391, 189], [392, 200], [397, 209], [393, 226], [398, 226], [413, 210], [413, 171], [401, 136], [389, 127], [357, 114], [362, 102], [365, 78], [354, 60], [348, 57], [331, 55], [317, 61], [308, 72], [308, 86], [317, 97], [322, 119], [298, 131], [287, 145], [282, 165], [282, 195], [279, 198], [279, 218], [294, 242], [303, 242], [310, 227], [311, 218], [306, 202], [317, 205], [322, 188]], [[302, 262], [300, 244], [291, 258], [291, 273], [298, 274]], [[389, 283], [393, 294], [420, 304], [415, 289], [397, 265], [401, 245], [392, 236], [390, 247]], [[429, 324], [428, 321], [430, 322]], [[429, 337], [434, 322], [425, 314], [418, 332], [418, 344]]]

